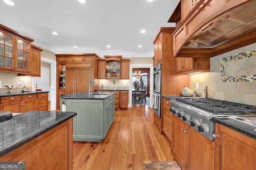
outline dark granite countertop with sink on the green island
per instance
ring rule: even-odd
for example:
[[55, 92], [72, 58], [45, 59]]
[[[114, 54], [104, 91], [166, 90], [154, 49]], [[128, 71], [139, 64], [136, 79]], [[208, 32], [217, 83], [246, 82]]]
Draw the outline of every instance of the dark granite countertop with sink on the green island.
[[71, 94], [62, 94], [59, 95], [61, 98], [64, 99], [106, 99], [112, 95], [113, 93], [93, 93], [93, 95], [89, 95], [89, 93], [71, 93]]

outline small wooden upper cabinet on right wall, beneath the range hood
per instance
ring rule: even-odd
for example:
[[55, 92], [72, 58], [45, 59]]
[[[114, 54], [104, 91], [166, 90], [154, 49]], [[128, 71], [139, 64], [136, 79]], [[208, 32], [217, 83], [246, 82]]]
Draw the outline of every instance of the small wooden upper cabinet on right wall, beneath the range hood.
[[196, 72], [210, 72], [209, 58], [182, 58], [176, 60], [177, 74], [191, 74]]

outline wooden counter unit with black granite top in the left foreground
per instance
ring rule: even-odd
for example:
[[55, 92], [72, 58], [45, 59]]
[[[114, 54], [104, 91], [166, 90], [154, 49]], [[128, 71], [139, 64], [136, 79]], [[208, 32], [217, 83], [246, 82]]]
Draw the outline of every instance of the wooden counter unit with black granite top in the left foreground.
[[13, 113], [0, 123], [0, 162], [26, 169], [72, 169], [72, 118], [76, 112]]

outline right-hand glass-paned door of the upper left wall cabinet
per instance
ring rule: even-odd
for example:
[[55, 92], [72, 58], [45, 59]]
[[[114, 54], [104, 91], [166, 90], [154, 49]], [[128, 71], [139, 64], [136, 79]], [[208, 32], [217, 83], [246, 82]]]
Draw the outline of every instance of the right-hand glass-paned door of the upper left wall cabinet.
[[30, 46], [31, 44], [23, 39], [16, 38], [16, 71], [30, 71]]

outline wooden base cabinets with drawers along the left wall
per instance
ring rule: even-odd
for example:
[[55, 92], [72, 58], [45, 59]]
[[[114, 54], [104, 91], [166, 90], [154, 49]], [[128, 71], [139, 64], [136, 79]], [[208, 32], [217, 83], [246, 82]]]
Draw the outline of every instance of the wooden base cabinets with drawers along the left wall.
[[27, 111], [48, 111], [48, 92], [24, 94], [0, 98], [0, 111], [25, 113]]

